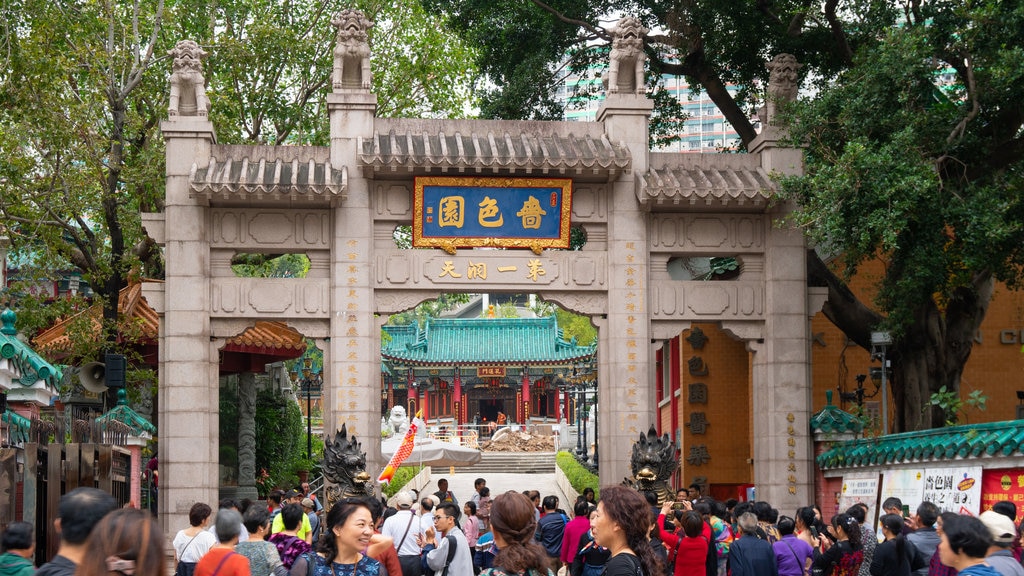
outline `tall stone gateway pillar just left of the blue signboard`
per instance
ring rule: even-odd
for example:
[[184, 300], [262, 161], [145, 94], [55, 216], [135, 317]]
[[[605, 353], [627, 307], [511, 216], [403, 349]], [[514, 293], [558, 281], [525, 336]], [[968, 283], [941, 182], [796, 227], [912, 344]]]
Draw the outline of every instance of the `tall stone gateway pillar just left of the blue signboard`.
[[[328, 94], [331, 164], [348, 166], [347, 199], [334, 210], [331, 253], [331, 341], [324, 358], [324, 426], [347, 424], [362, 443], [367, 469], [379, 470], [380, 329], [374, 319], [371, 180], [357, 170], [357, 138], [374, 134], [377, 96], [336, 88]], [[373, 474], [373, 472], [371, 472]]]

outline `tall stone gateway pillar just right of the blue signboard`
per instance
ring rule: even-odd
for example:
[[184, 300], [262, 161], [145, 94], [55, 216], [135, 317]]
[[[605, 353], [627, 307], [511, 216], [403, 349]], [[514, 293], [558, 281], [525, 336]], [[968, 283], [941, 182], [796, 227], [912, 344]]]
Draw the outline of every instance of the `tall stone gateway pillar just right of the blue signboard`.
[[608, 311], [598, 327], [598, 429], [601, 484], [630, 474], [633, 443], [656, 423], [649, 364], [647, 218], [636, 197], [636, 174], [647, 171], [648, 132], [654, 102], [642, 94], [609, 94], [597, 121], [612, 142], [633, 157], [632, 172], [608, 186]]

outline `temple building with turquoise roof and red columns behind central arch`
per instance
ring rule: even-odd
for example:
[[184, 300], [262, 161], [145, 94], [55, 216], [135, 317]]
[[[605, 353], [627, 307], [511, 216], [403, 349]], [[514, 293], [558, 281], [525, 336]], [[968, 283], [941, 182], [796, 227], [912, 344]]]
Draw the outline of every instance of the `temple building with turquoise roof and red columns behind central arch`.
[[428, 424], [568, 420], [569, 386], [593, 380], [596, 344], [566, 340], [554, 316], [432, 318], [384, 332], [382, 411], [404, 406]]

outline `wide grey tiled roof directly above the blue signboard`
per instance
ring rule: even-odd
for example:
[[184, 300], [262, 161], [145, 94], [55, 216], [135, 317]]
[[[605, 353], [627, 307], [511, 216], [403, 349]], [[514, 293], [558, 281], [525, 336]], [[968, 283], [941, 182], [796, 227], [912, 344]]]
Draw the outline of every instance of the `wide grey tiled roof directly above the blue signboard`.
[[[381, 123], [359, 139], [359, 161], [375, 172], [398, 171], [484, 174], [566, 174], [612, 179], [632, 163], [623, 143], [583, 124], [563, 130], [535, 122], [499, 123], [494, 131], [473, 132], [469, 125], [429, 121]], [[575, 132], [569, 130], [574, 129]]]

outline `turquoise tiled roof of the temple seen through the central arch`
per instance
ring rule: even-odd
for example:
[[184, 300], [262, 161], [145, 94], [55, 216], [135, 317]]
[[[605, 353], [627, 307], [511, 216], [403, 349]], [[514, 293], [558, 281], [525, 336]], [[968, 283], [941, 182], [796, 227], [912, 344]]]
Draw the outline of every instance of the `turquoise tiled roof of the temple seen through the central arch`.
[[566, 341], [554, 316], [545, 318], [432, 318], [424, 328], [385, 326], [391, 341], [381, 356], [419, 366], [551, 364], [594, 355], [596, 346]]

